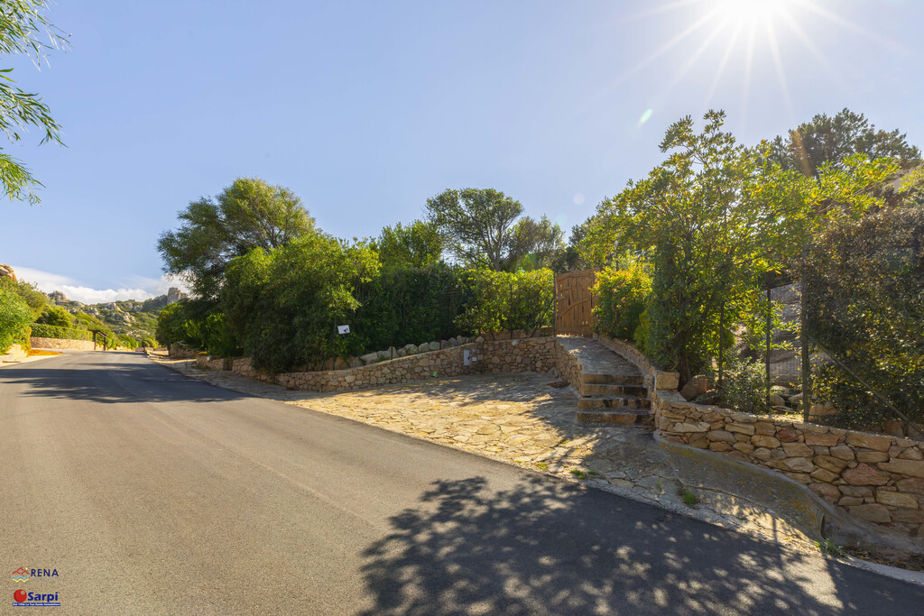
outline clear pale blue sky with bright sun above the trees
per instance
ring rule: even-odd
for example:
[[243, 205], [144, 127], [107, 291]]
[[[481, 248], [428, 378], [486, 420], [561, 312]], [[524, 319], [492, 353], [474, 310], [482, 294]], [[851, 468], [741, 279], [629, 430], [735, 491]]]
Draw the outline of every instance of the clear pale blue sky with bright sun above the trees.
[[918, 0], [52, 5], [36, 70], [66, 148], [7, 151], [0, 262], [84, 301], [163, 292], [157, 237], [236, 177], [292, 188], [335, 236], [376, 236], [449, 187], [494, 187], [565, 230], [724, 109], [746, 143], [844, 107], [924, 146]]

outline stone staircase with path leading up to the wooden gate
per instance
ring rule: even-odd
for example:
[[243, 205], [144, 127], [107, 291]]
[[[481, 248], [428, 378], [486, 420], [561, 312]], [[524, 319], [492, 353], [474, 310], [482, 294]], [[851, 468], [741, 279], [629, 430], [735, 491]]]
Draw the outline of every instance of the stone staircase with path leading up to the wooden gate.
[[577, 360], [569, 381], [577, 390], [577, 420], [589, 424], [631, 425], [649, 422], [651, 401], [641, 371], [596, 340], [559, 336], [558, 343]]

